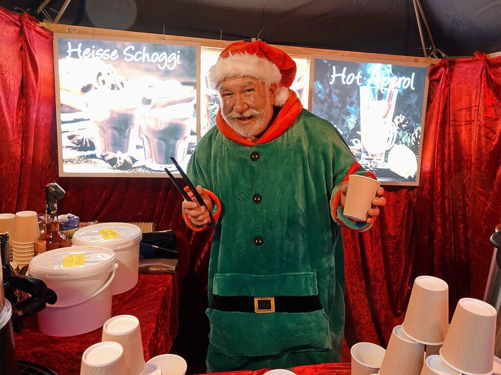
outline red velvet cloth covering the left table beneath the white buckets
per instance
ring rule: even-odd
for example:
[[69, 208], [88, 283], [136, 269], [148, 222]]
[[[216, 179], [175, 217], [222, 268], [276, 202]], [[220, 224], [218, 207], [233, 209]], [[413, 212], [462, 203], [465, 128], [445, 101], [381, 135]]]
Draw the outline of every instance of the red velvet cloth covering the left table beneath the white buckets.
[[[177, 234], [177, 233], [176, 233]], [[137, 285], [113, 296], [112, 316], [135, 315], [141, 324], [145, 360], [166, 353], [177, 335], [179, 292], [189, 262], [186, 237], [176, 237], [180, 259], [174, 274], [140, 274]], [[80, 373], [84, 350], [101, 341], [102, 328], [70, 337], [52, 337], [38, 330], [36, 316], [26, 320], [26, 328], [15, 335], [18, 359], [42, 364], [58, 375]]]

